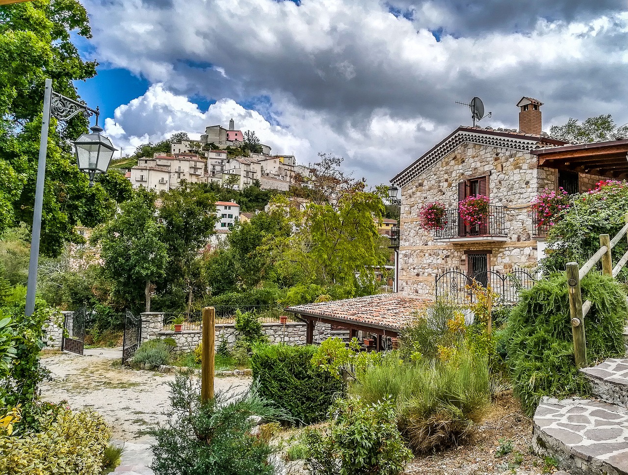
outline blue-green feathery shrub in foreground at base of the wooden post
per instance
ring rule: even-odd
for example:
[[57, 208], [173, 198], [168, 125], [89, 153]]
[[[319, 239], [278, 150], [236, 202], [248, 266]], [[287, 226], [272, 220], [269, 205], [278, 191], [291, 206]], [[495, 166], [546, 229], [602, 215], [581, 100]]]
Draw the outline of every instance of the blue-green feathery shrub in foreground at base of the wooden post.
[[198, 383], [179, 373], [170, 383], [173, 417], [148, 434], [156, 439], [153, 464], [156, 475], [275, 474], [269, 456], [276, 448], [251, 434], [254, 419], [284, 418], [255, 385], [244, 393], [217, 391], [215, 398], [200, 402]]

